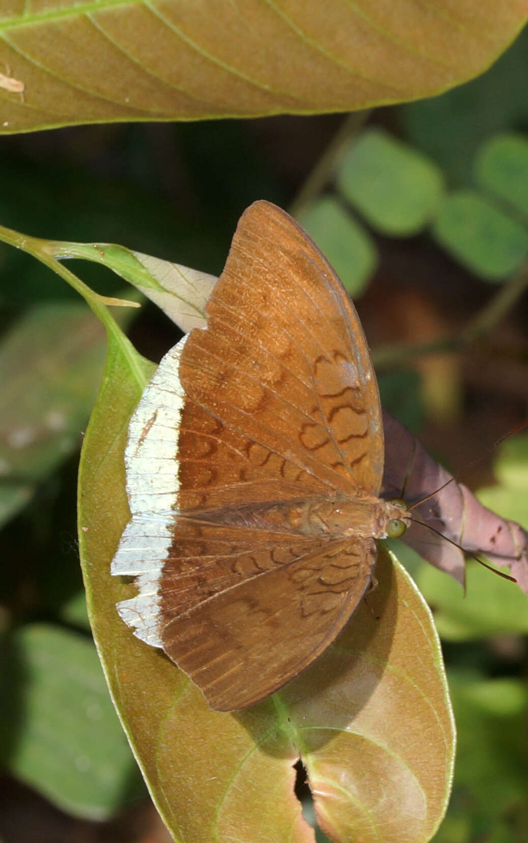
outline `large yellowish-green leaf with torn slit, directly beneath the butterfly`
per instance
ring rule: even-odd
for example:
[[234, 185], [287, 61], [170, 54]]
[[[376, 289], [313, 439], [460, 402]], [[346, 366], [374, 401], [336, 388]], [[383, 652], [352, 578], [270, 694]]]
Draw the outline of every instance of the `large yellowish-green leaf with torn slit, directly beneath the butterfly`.
[[120, 620], [115, 603], [135, 588], [110, 577], [109, 564], [130, 517], [126, 427], [149, 370], [111, 339], [83, 446], [79, 546], [109, 688], [174, 839], [313, 840], [293, 792], [301, 757], [335, 840], [352, 830], [365, 843], [429, 840], [450, 789], [451, 709], [428, 609], [384, 552], [378, 587], [335, 645], [280, 694], [236, 714], [212, 711]]

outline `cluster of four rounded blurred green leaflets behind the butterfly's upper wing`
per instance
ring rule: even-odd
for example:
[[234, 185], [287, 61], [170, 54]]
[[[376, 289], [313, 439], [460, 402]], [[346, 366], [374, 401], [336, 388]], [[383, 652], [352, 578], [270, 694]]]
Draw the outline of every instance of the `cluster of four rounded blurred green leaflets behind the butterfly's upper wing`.
[[[526, 202], [528, 137], [492, 137], [474, 169], [486, 195], [445, 191], [445, 176], [431, 158], [379, 128], [367, 128], [349, 142], [336, 168], [339, 200], [324, 196], [312, 202], [299, 222], [307, 223], [336, 268], [344, 266], [350, 293], [365, 289], [378, 262], [367, 229], [351, 209], [390, 237], [410, 237], [430, 227], [462, 266], [485, 281], [504, 281], [528, 255], [528, 220], [516, 218]], [[503, 200], [509, 202], [504, 208]]]

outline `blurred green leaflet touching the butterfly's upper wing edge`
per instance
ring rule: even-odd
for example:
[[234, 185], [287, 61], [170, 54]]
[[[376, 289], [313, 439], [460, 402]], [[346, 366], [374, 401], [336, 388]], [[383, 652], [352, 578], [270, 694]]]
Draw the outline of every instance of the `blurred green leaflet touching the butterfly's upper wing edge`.
[[344, 284], [360, 296], [376, 269], [376, 246], [360, 223], [330, 196], [303, 208], [298, 222], [317, 243]]

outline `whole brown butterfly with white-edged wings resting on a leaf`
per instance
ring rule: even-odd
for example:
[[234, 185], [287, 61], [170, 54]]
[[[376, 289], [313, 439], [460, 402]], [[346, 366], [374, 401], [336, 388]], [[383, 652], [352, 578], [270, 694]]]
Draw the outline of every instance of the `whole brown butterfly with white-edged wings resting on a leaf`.
[[360, 320], [280, 208], [243, 213], [195, 328], [160, 363], [125, 452], [131, 522], [118, 604], [219, 711], [317, 658], [371, 583], [376, 538], [408, 516], [378, 497], [381, 407]]

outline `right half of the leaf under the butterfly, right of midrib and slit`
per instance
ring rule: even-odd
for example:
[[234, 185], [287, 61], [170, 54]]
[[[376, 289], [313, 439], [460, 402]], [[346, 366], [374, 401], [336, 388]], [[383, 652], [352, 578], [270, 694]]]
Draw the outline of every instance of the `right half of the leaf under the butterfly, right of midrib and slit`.
[[290, 686], [290, 695], [306, 695], [299, 723], [309, 754], [301, 758], [313, 792], [324, 794], [315, 803], [332, 840], [425, 841], [445, 810], [454, 753], [440, 649], [421, 594], [397, 563], [390, 572], [384, 551], [376, 579], [318, 670]]

